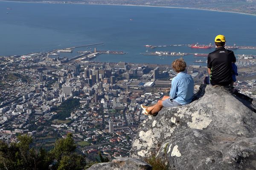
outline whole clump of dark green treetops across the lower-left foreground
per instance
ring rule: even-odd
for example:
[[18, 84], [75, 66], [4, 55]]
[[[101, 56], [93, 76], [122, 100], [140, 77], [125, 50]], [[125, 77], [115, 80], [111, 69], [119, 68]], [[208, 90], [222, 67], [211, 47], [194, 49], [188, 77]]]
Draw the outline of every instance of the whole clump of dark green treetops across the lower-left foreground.
[[10, 145], [0, 141], [0, 170], [83, 170], [86, 165], [84, 156], [76, 153], [71, 133], [57, 140], [49, 152], [31, 147], [31, 136], [18, 139], [19, 143]]

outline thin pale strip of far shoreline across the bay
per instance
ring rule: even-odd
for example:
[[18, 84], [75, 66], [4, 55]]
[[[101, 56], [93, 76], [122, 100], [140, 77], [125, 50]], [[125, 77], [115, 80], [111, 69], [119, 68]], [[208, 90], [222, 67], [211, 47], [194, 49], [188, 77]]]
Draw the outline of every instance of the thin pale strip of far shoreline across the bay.
[[204, 8], [191, 8], [191, 7], [175, 7], [175, 6], [149, 6], [149, 5], [122, 5], [122, 4], [99, 4], [99, 3], [47, 3], [47, 2], [22, 2], [22, 1], [9, 1], [9, 0], [0, 0], [0, 2], [13, 2], [13, 3], [44, 3], [44, 4], [79, 4], [79, 5], [105, 5], [105, 6], [142, 6], [142, 7], [154, 7], [154, 8], [178, 8], [178, 9], [193, 9], [193, 10], [204, 10], [204, 11], [216, 11], [216, 12], [226, 12], [226, 13], [235, 13], [235, 14], [245, 14], [256, 16], [256, 14], [248, 14], [244, 12], [233, 12], [233, 11], [220, 11], [220, 10], [212, 10], [212, 9], [204, 9]]

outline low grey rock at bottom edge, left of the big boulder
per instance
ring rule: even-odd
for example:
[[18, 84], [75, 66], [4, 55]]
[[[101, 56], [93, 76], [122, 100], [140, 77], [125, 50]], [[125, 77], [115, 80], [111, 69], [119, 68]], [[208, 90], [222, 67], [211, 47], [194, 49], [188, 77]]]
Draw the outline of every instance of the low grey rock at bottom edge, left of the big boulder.
[[152, 170], [152, 167], [136, 158], [118, 158], [111, 162], [94, 164], [87, 170]]

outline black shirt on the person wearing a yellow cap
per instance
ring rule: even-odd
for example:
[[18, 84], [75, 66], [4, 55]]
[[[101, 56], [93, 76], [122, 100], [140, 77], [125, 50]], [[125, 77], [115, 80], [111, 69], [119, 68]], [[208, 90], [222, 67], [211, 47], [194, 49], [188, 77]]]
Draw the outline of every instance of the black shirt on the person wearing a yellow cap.
[[232, 82], [232, 62], [236, 61], [234, 52], [218, 47], [208, 54], [207, 67], [211, 69], [212, 85], [229, 85]]

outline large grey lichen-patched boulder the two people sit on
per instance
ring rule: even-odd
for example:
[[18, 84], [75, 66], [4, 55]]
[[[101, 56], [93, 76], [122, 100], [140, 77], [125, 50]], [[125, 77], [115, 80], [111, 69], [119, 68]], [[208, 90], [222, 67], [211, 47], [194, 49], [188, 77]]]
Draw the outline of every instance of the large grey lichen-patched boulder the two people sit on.
[[148, 116], [130, 156], [156, 155], [175, 170], [256, 170], [256, 113], [228, 88], [201, 86], [198, 96]]

